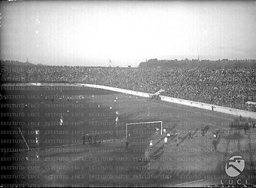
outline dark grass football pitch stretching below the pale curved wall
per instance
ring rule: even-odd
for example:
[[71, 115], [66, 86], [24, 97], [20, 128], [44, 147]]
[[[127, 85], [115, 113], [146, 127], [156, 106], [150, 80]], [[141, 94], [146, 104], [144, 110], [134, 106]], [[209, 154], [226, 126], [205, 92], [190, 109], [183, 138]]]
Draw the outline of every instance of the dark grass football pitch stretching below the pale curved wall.
[[[5, 155], [2, 174], [6, 174], [2, 175], [2, 186], [206, 186], [236, 184], [237, 180], [256, 183], [256, 130], [246, 134], [243, 129], [231, 130], [235, 117], [228, 114], [88, 87], [5, 88], [3, 95], [20, 99], [1, 99]], [[68, 100], [68, 96], [72, 99]], [[163, 143], [164, 135], [156, 135], [151, 129], [132, 134], [126, 147], [126, 123], [148, 121], [163, 121], [170, 133], [168, 144]], [[203, 127], [207, 128], [205, 135], [200, 132]], [[192, 138], [188, 138], [189, 129]], [[217, 129], [220, 133], [214, 150], [212, 132]], [[35, 130], [40, 132], [39, 144], [35, 143]], [[100, 143], [83, 144], [83, 135], [90, 132]], [[143, 157], [149, 140], [154, 146], [146, 162]], [[231, 178], [225, 173], [225, 164], [233, 155], [245, 159], [245, 169]]]

